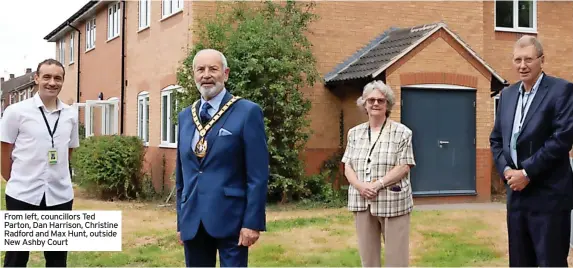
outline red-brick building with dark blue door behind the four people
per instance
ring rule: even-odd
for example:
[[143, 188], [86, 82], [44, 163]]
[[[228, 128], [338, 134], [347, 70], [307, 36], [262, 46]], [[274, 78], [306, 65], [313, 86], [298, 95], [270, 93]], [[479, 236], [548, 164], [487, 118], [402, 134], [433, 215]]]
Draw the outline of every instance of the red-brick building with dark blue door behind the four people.
[[[573, 79], [572, 8], [517, 0], [317, 2], [309, 38], [324, 83], [305, 89], [314, 132], [304, 154], [307, 172], [366, 120], [355, 100], [364, 84], [380, 79], [397, 96], [392, 118], [414, 130], [415, 195], [489, 200], [488, 136], [496, 93], [517, 79], [512, 46], [524, 33], [538, 36], [546, 72]], [[216, 3], [203, 1], [91, 1], [45, 37], [68, 63], [64, 99], [118, 100], [118, 122], [111, 124], [144, 139], [158, 187], [175, 165], [176, 71], [192, 44], [190, 30], [215, 10]]]

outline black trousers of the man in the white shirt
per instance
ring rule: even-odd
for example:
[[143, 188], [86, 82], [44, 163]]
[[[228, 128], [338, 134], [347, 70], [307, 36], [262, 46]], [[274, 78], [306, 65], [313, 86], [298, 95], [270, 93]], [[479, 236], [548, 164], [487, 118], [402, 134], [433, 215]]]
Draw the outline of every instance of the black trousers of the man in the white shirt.
[[[6, 210], [72, 210], [73, 202], [72, 200], [48, 207], [46, 206], [46, 196], [44, 196], [40, 205], [35, 206], [6, 195]], [[6, 251], [4, 267], [26, 267], [29, 258], [30, 252], [28, 251]], [[68, 252], [44, 251], [44, 258], [46, 259], [46, 267], [66, 267]]]

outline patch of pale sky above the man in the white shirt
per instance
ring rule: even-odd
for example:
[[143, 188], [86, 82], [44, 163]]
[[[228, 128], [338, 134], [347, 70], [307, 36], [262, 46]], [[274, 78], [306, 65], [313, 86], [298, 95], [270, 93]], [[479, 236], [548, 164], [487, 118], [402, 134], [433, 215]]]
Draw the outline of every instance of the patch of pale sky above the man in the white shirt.
[[44, 40], [88, 0], [0, 0], [0, 77], [23, 75], [26, 68], [56, 57], [56, 44]]

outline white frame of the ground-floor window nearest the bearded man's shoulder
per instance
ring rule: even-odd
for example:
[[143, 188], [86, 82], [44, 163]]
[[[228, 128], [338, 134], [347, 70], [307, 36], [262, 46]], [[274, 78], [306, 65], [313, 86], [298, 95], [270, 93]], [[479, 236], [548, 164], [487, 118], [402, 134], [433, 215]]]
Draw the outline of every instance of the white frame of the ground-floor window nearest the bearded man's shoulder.
[[[172, 103], [173, 103], [173, 90], [177, 90], [178, 92], [182, 91], [182, 87], [177, 86], [177, 85], [171, 85], [168, 86], [166, 88], [164, 88], [163, 90], [161, 90], [161, 128], [160, 128], [160, 137], [161, 137], [161, 142], [160, 142], [160, 147], [164, 147], [164, 148], [177, 148], [177, 138], [178, 138], [178, 132], [179, 132], [179, 125], [175, 124], [173, 120], [173, 118], [171, 118], [171, 116], [173, 115], [173, 109], [177, 109], [178, 103], [177, 100], [175, 100], [175, 107], [172, 107]], [[167, 97], [167, 115], [165, 115], [164, 112], [164, 103], [163, 103], [163, 98]], [[165, 118], [165, 119], [164, 119]], [[163, 132], [163, 127], [167, 128], [166, 133]], [[175, 131], [175, 133], [172, 133], [171, 131]], [[171, 141], [170, 137], [172, 136], [172, 134], [174, 134], [174, 140]]]

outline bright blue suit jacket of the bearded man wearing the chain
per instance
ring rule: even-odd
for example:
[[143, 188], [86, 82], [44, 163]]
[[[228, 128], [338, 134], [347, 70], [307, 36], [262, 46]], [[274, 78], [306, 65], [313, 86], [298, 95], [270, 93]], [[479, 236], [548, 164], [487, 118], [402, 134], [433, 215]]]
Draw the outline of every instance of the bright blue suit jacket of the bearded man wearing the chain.
[[[221, 107], [231, 97], [227, 92]], [[193, 239], [201, 221], [215, 238], [238, 237], [243, 227], [265, 231], [269, 152], [262, 109], [246, 99], [236, 101], [207, 133], [202, 161], [191, 148], [196, 131], [191, 109], [179, 113], [176, 187], [181, 239]], [[221, 128], [231, 135], [219, 136]]]

